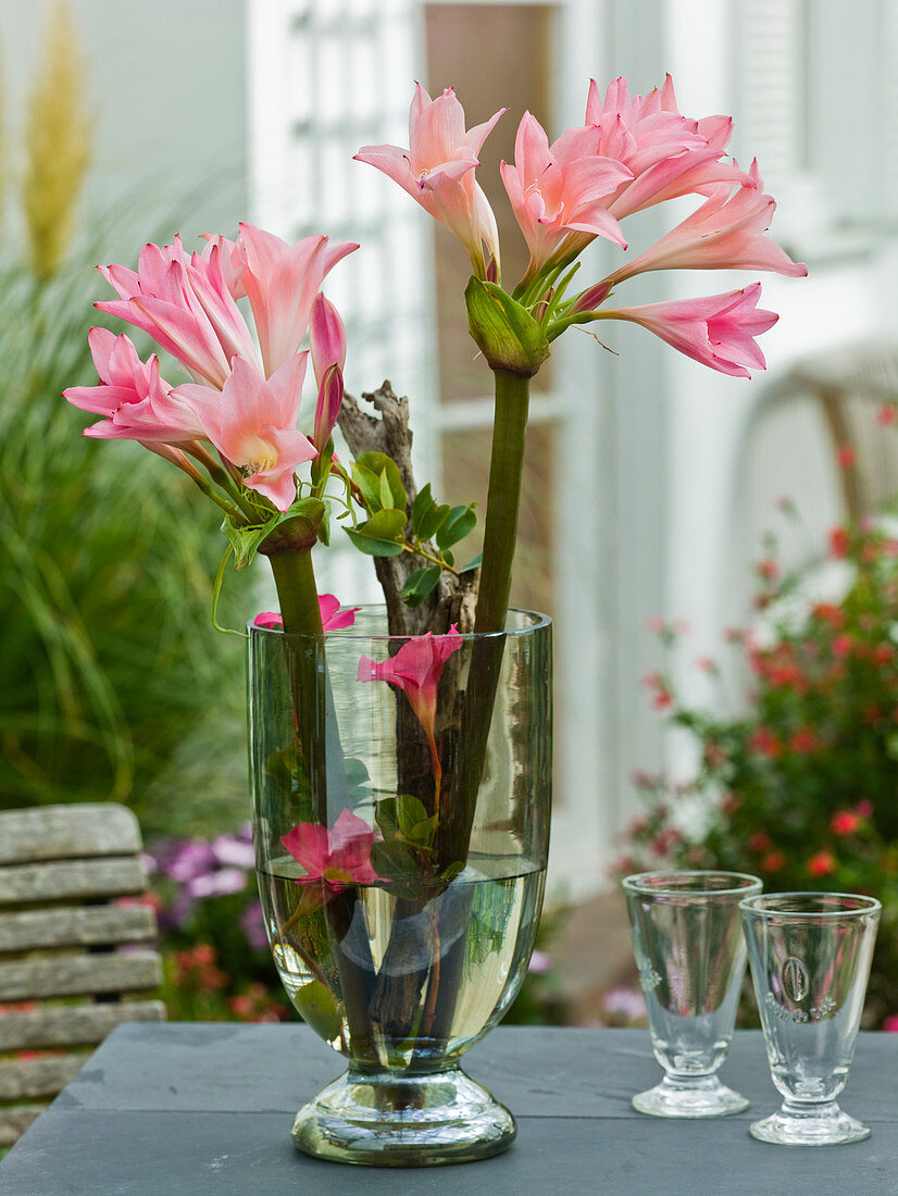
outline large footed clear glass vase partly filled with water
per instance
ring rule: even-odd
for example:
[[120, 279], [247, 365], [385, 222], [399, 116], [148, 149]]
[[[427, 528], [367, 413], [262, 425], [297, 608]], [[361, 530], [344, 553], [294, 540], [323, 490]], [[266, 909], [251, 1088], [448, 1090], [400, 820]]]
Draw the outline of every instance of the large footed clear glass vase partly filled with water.
[[511, 1112], [459, 1066], [508, 1009], [543, 901], [551, 623], [391, 639], [251, 628], [253, 831], [283, 986], [348, 1070], [299, 1149], [421, 1166], [485, 1158]]

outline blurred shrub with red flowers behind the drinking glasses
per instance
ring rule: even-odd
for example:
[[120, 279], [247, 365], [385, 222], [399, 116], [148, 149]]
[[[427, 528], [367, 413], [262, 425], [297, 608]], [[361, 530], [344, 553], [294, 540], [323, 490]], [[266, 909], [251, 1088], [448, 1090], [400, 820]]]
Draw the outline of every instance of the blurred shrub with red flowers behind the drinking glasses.
[[[768, 890], [878, 897], [868, 1015], [898, 1029], [898, 539], [886, 524], [839, 526], [829, 559], [845, 579], [831, 602], [802, 602], [802, 579], [781, 575], [774, 551], [756, 566], [764, 634], [726, 633], [752, 676], [743, 714], [723, 713], [723, 694], [707, 710], [679, 701], [670, 654], [680, 631], [658, 628], [665, 666], [646, 683], [695, 737], [698, 768], [676, 786], [636, 775], [647, 813], [618, 868], [721, 867]], [[715, 661], [697, 664], [721, 684]]]

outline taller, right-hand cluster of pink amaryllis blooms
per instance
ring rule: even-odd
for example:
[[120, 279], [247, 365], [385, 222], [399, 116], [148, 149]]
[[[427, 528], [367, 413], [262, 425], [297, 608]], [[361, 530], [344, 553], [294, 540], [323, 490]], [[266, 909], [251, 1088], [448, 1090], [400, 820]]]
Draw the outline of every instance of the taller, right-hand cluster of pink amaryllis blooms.
[[[445, 224], [466, 246], [475, 271], [488, 280], [499, 276], [496, 222], [475, 182], [475, 169], [477, 153], [501, 115], [500, 110], [465, 132], [464, 111], [452, 90], [430, 99], [417, 85], [409, 116], [410, 148], [366, 146], [356, 154]], [[536, 117], [525, 112], [514, 161], [501, 166], [530, 249], [515, 297], [532, 300], [538, 319], [562, 317], [558, 330], [578, 316], [624, 319], [721, 373], [747, 378], [750, 368], [763, 370], [756, 338], [777, 316], [757, 306], [759, 283], [701, 299], [599, 310], [617, 285], [649, 270], [807, 274], [765, 236], [776, 205], [764, 194], [757, 163], [744, 171], [735, 160], [723, 159], [731, 130], [727, 116], [683, 116], [670, 75], [660, 90], [633, 97], [623, 78], [604, 97], [591, 81], [585, 123], [551, 145]], [[604, 237], [627, 249], [619, 224], [624, 216], [690, 194], [703, 202], [656, 244], [563, 307], [552, 304], [560, 270], [589, 242]]]

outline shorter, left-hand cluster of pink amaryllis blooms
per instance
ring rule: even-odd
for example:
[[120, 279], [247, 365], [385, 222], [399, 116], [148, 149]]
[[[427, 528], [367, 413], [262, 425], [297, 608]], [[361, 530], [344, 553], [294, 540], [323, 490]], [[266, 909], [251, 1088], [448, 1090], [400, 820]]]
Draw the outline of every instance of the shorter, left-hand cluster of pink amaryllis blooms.
[[[98, 386], [72, 386], [65, 397], [103, 419], [85, 435], [139, 440], [190, 471], [185, 453], [204, 457], [210, 443], [250, 489], [287, 511], [297, 496], [294, 470], [326, 445], [343, 396], [346, 334], [322, 283], [359, 246], [332, 248], [326, 237], [288, 245], [240, 225], [236, 242], [214, 236], [201, 254], [179, 238], [146, 245], [138, 269], [99, 267], [118, 293], [96, 304], [149, 335], [194, 379], [172, 386], [153, 354], [142, 361], [128, 336], [90, 334]], [[238, 307], [245, 298], [258, 338]], [[310, 334], [318, 380], [314, 434], [297, 428]]]

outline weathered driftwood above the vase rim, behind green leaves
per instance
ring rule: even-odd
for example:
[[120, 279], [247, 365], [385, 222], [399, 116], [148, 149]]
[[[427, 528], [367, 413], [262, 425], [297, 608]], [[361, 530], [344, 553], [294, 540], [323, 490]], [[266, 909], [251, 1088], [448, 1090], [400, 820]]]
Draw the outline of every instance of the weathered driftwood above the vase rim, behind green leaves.
[[[417, 484], [411, 468], [413, 433], [409, 427], [409, 401], [397, 397], [389, 382], [372, 393], [362, 392], [362, 399], [377, 414], [364, 410], [352, 395], [343, 396], [340, 411], [340, 431], [353, 456], [362, 452], [381, 452], [396, 462], [402, 483], [408, 495], [405, 513], [411, 518], [411, 504], [417, 495]], [[410, 532], [410, 527], [409, 527]], [[426, 562], [411, 553], [399, 556], [375, 556], [374, 568], [386, 600], [387, 623], [391, 635], [445, 634], [452, 623], [459, 631], [474, 630], [474, 608], [477, 599], [478, 570], [470, 570], [457, 578], [444, 569], [436, 588], [420, 606], [408, 606], [399, 592], [409, 576]]]

